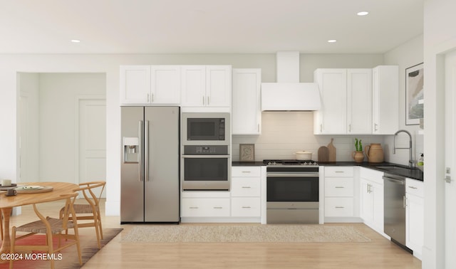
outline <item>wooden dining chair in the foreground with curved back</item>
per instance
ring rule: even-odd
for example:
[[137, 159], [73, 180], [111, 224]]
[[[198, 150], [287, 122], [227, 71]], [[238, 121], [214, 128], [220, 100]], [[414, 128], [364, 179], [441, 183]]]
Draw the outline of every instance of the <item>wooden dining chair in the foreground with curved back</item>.
[[[18, 250], [44, 250], [46, 253], [53, 254], [57, 257], [57, 253], [60, 252], [63, 248], [68, 248], [70, 246], [76, 245], [78, 248], [78, 258], [79, 264], [82, 265], [81, 258], [81, 246], [79, 243], [79, 234], [78, 234], [78, 223], [76, 220], [76, 214], [74, 213], [73, 204], [76, 200], [78, 193], [65, 194], [56, 199], [51, 199], [48, 201], [58, 201], [65, 200], [65, 206], [63, 210], [63, 218], [51, 218], [44, 217], [39, 211], [38, 206], [33, 204], [33, 210], [36, 213], [36, 216], [40, 218], [39, 221], [34, 221], [31, 223], [26, 223], [19, 227], [13, 226], [11, 231], [11, 253], [18, 253]], [[48, 202], [46, 201], [46, 202]], [[45, 202], [41, 202], [43, 204]], [[69, 221], [71, 220], [71, 221]], [[73, 229], [74, 233], [68, 233], [68, 229]], [[18, 236], [16, 238], [17, 232], [25, 232], [26, 234]], [[16, 242], [26, 238], [28, 236], [33, 236], [36, 233], [46, 234], [46, 244], [39, 246], [24, 246], [16, 245]], [[58, 246], [53, 246], [53, 238], [58, 238]], [[65, 239], [66, 243], [61, 244], [61, 239]], [[70, 240], [68, 242], [68, 240]], [[54, 254], [55, 253], [55, 254]], [[49, 259], [51, 261], [51, 268], [54, 268], [54, 259]], [[9, 268], [13, 268], [14, 259], [9, 260]]]

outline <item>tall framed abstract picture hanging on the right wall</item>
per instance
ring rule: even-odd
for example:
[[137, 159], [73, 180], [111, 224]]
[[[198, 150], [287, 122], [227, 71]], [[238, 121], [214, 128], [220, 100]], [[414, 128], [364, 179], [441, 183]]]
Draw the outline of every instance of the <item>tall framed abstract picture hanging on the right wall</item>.
[[423, 63], [405, 69], [405, 125], [419, 125], [424, 113]]

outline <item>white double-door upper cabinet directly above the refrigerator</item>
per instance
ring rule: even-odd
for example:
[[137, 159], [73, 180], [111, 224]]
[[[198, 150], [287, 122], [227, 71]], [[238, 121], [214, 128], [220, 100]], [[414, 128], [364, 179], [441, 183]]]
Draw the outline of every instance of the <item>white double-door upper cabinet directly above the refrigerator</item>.
[[121, 65], [120, 103], [177, 105], [180, 103], [179, 65]]

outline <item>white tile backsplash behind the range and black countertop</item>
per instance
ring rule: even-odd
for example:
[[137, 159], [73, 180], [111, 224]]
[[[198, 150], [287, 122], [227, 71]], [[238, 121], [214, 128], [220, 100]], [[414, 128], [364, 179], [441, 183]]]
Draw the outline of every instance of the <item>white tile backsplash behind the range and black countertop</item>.
[[295, 159], [294, 152], [313, 152], [312, 159], [318, 160], [318, 148], [327, 146], [334, 139], [336, 161], [351, 162], [355, 150], [354, 139], [362, 139], [363, 145], [383, 144], [379, 135], [314, 135], [313, 112], [262, 112], [261, 135], [234, 135], [232, 158], [239, 161], [239, 144], [255, 144], [255, 160]]

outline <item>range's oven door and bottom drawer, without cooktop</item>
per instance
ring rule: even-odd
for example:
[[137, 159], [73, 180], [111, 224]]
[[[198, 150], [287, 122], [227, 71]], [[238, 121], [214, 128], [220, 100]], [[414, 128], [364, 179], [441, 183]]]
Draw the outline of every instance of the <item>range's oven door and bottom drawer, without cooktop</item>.
[[266, 223], [318, 224], [318, 173], [269, 173]]

